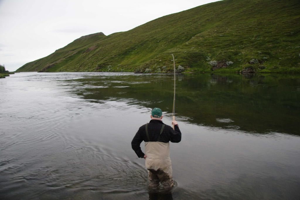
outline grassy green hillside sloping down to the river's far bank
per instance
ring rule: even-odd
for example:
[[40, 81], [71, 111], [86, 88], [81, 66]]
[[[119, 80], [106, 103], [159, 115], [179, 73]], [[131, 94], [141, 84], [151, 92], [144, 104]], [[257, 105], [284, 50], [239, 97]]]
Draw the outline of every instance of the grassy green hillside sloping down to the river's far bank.
[[17, 71], [300, 72], [299, 0], [223, 0], [74, 40]]

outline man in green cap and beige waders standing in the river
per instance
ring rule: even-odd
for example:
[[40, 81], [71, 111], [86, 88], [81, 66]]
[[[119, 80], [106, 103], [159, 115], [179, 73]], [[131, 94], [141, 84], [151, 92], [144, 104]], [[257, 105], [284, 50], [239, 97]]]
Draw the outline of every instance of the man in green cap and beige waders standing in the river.
[[[162, 118], [161, 109], [154, 108], [151, 112], [151, 121], [139, 128], [131, 141], [131, 147], [138, 157], [146, 159], [150, 180], [149, 187], [158, 189], [159, 183], [161, 183], [164, 190], [170, 190], [174, 182], [169, 142], [180, 142], [181, 132], [175, 120], [172, 121], [173, 130], [172, 127], [161, 121]], [[145, 141], [146, 154], [140, 147], [142, 141]]]

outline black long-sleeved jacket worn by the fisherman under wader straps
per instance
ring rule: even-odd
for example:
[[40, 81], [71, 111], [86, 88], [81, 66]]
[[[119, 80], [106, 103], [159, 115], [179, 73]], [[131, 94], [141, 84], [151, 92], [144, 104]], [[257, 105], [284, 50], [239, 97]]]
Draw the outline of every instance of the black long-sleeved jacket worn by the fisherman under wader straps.
[[161, 133], [161, 137], [159, 141], [157, 141], [159, 133], [161, 131], [161, 127], [164, 123], [160, 120], [152, 119], [148, 123], [148, 133], [150, 137], [150, 141], [146, 135], [146, 124], [141, 126], [134, 138], [131, 141], [131, 147], [135, 151], [138, 157], [143, 158], [144, 153], [141, 150], [140, 144], [141, 142], [180, 142], [181, 141], [181, 132], [179, 130], [178, 125], [175, 125], [174, 129], [168, 125], [165, 125], [163, 132]]

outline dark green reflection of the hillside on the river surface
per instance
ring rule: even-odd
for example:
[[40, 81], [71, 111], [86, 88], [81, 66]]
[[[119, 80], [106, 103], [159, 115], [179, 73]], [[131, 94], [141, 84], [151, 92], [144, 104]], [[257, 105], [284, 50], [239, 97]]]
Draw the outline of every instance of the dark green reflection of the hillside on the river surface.
[[[77, 95], [90, 101], [126, 100], [172, 112], [171, 75], [93, 76], [70, 82], [77, 83]], [[299, 87], [299, 75], [178, 75], [175, 110], [195, 124], [299, 135]]]

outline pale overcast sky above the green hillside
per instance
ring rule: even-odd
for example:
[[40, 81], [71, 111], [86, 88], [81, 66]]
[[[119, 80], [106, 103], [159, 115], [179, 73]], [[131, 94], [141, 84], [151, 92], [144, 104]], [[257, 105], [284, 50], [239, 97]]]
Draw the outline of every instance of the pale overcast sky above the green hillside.
[[0, 64], [15, 71], [92, 33], [128, 31], [218, 0], [0, 0]]

